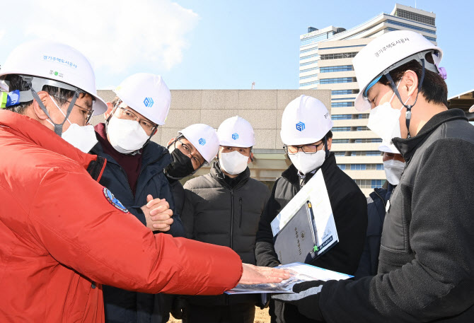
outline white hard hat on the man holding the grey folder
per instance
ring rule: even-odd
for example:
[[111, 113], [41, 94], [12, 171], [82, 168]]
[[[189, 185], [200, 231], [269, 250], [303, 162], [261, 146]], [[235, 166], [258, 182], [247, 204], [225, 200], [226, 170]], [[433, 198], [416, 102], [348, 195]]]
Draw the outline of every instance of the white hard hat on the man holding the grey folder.
[[301, 95], [285, 107], [280, 136], [286, 145], [304, 145], [320, 141], [331, 128], [333, 120], [323, 102]]

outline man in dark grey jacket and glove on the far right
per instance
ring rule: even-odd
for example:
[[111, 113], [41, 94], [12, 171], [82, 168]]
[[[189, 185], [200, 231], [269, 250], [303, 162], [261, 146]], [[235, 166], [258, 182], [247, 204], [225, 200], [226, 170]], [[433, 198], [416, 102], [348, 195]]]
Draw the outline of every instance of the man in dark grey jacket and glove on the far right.
[[405, 170], [387, 206], [378, 274], [296, 284], [286, 302], [326, 322], [474, 322], [474, 127], [447, 109], [443, 52], [419, 33], [374, 38], [353, 64], [356, 109]]

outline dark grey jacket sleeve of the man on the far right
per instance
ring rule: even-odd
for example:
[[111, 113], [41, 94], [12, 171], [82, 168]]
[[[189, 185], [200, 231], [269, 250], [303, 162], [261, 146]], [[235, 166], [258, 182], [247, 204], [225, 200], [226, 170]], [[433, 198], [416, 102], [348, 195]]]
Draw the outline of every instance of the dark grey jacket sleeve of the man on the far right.
[[473, 160], [473, 144], [461, 139], [425, 151], [413, 186], [397, 187], [411, 196], [404, 215], [415, 259], [387, 274], [325, 283], [327, 322], [434, 322], [474, 305]]

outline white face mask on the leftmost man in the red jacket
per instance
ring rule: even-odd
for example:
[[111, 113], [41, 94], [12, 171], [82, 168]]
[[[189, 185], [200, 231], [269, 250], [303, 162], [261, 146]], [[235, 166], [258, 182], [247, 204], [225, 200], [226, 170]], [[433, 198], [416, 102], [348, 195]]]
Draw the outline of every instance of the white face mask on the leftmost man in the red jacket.
[[[56, 101], [53, 98], [51, 98], [51, 100], [62, 113], [62, 115], [66, 117], [66, 114], [62, 112]], [[54, 127], [54, 124], [49, 119], [46, 119], [46, 121], [50, 122], [50, 124], [52, 124]], [[61, 138], [67, 141], [68, 143], [71, 143], [72, 146], [78, 148], [83, 153], [88, 153], [89, 151], [91, 151], [92, 147], [96, 146], [97, 143], [96, 131], [94, 131], [94, 127], [91, 124], [89, 124], [88, 126], [79, 126], [79, 124], [71, 124], [69, 119], [67, 119], [67, 122], [69, 122], [69, 128], [61, 134]]]

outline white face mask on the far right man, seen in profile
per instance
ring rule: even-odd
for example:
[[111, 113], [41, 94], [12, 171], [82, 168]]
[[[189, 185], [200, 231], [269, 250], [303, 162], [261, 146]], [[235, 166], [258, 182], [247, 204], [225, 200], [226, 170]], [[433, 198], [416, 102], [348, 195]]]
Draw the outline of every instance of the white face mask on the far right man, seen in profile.
[[[397, 89], [399, 85], [400, 82], [398, 82]], [[369, 122], [367, 123], [367, 127], [371, 131], [374, 131], [377, 136], [388, 143], [392, 141], [392, 138], [400, 138], [402, 136], [400, 134], [400, 114], [403, 105], [400, 109], [393, 109], [391, 105], [393, 97], [395, 97], [395, 93], [393, 93], [390, 101], [377, 105], [374, 109], [370, 110]], [[405, 105], [410, 100], [410, 97], [405, 101]]]

